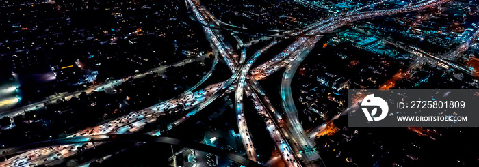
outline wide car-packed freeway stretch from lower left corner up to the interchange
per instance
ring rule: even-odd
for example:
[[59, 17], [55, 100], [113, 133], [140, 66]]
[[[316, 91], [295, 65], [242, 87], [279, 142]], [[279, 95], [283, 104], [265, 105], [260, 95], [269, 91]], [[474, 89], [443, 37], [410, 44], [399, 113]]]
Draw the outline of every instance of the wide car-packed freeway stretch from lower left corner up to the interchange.
[[[166, 102], [161, 102], [160, 104], [145, 108], [144, 110], [131, 112], [129, 115], [122, 116], [116, 120], [109, 121], [95, 127], [89, 127], [75, 134], [71, 134], [67, 138], [84, 135], [129, 134], [137, 132], [138, 130], [141, 130], [146, 123], [152, 123], [153, 121], [156, 121], [159, 115], [164, 115], [165, 110], [176, 108], [179, 104], [187, 104], [186, 109], [194, 108], [194, 106], [203, 104], [205, 101], [207, 101], [209, 97], [213, 96], [214, 92], [220, 89], [222, 85], [223, 82], [219, 84], [209, 85], [206, 89], [201, 89], [200, 91], [196, 91], [194, 93], [185, 93], [186, 95], [184, 95], [183, 97], [178, 97], [176, 99], [168, 100]], [[100, 145], [101, 143], [96, 144]], [[76, 149], [79, 146], [81, 145], [62, 145], [60, 147], [57, 147], [56, 149], [43, 148], [27, 151], [20, 155], [11, 157], [4, 162], [0, 162], [0, 166], [12, 166], [12, 164], [18, 164], [24, 161], [27, 162], [25, 164], [49, 164], [55, 162], [55, 160], [75, 155]], [[92, 147], [93, 145], [87, 145], [86, 149], [90, 149]], [[44, 161], [44, 159], [46, 159], [47, 161]]]

